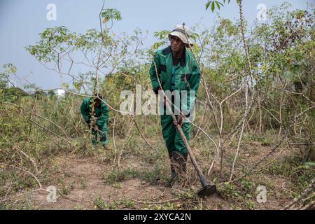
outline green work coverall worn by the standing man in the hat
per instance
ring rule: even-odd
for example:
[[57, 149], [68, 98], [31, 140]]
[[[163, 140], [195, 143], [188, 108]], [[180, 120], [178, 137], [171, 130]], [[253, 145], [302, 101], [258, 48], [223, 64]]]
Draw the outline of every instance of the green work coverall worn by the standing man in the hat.
[[[181, 93], [182, 90], [187, 90], [188, 92], [189, 90], [195, 90], [195, 97], [197, 97], [197, 90], [200, 85], [200, 69], [190, 50], [184, 50], [183, 57], [176, 66], [173, 64], [171, 46], [164, 50], [158, 50], [155, 54], [149, 73], [155, 94], [158, 94], [158, 89], [161, 83], [162, 90], [164, 91], [169, 90], [172, 92], [172, 90], [178, 90], [178, 92]], [[186, 112], [184, 113], [181, 109], [187, 118], [193, 116], [191, 113], [192, 111], [190, 111], [190, 102], [195, 102], [195, 97], [190, 97], [190, 94], [188, 94]], [[182, 105], [180, 107], [182, 107]], [[187, 155], [188, 151], [183, 139], [181, 139], [181, 135], [173, 123], [172, 116], [165, 114], [165, 110], [166, 109], [164, 109], [160, 116], [160, 119], [163, 138], [165, 139], [169, 154], [176, 152]], [[174, 111], [174, 106], [172, 106], [172, 110]], [[190, 136], [190, 126], [191, 124], [187, 122], [185, 123], [185, 121], [183, 121], [183, 125], [181, 126], [188, 141]]]

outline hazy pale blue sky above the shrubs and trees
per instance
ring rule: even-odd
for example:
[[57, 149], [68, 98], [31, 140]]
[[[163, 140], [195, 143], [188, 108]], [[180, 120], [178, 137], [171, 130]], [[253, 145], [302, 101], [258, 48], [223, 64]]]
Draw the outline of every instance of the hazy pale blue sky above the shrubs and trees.
[[[102, 0], [0, 0], [0, 66], [8, 62], [18, 68], [20, 78], [26, 77], [31, 83], [51, 89], [60, 87], [64, 81], [54, 71], [45, 69], [36, 59], [24, 49], [38, 41], [38, 34], [45, 28], [66, 26], [71, 31], [83, 33], [87, 29], [99, 29], [99, 10]], [[282, 0], [245, 0], [244, 15], [246, 20], [253, 22], [259, 3], [267, 9], [280, 5]], [[306, 8], [307, 2], [314, 0], [288, 1], [293, 8]], [[55, 3], [57, 20], [48, 21], [46, 6]], [[106, 0], [104, 8], [116, 8], [123, 20], [115, 22], [113, 31], [132, 34], [137, 27], [148, 31], [145, 46], [151, 46], [155, 41], [155, 31], [173, 29], [175, 25], [186, 22], [193, 26], [202, 21], [207, 27], [214, 24], [215, 13], [205, 10], [207, 0]], [[218, 11], [223, 18], [237, 20], [239, 18], [235, 0]], [[15, 79], [15, 78], [13, 78]], [[16, 80], [18, 86], [25, 81]]]

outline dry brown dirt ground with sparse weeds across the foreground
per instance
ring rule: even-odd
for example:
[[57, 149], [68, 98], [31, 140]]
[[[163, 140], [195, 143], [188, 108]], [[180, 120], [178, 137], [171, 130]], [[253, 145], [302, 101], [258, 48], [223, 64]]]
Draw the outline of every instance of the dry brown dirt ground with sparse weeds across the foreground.
[[[244, 172], [246, 165], [255, 164], [271, 148], [258, 141], [246, 144], [239, 154], [235, 176]], [[159, 152], [152, 152], [152, 155], [156, 153]], [[235, 151], [231, 148], [229, 153], [227, 162], [232, 160]], [[18, 209], [282, 209], [303, 190], [296, 186], [291, 176], [292, 172], [299, 170], [281, 167], [285, 164], [283, 158], [294, 157], [297, 153], [293, 148], [280, 148], [256, 172], [235, 184], [218, 180], [219, 167], [216, 166], [211, 181], [218, 183], [218, 194], [207, 199], [196, 195], [201, 185], [190, 160], [186, 186], [173, 190], [165, 187], [169, 164], [164, 155], [157, 155], [162, 157], [161, 160], [148, 161], [127, 153], [121, 159], [120, 167], [117, 158], [108, 153], [102, 156], [99, 153], [91, 156], [58, 155], [42, 162], [43, 168], [38, 174], [43, 188], [57, 188], [56, 202], [48, 202], [48, 192], [22, 191], [23, 196], [13, 197], [10, 206], [13, 204], [13, 208]], [[196, 157], [207, 173], [202, 151], [196, 152]], [[157, 167], [162, 169], [156, 172]], [[229, 174], [230, 169], [224, 172]], [[258, 186], [265, 186], [266, 202], [258, 203]]]

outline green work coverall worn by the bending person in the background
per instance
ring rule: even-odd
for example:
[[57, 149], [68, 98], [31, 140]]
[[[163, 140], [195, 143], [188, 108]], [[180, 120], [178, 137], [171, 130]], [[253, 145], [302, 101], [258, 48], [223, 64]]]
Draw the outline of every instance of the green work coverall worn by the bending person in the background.
[[[92, 98], [85, 98], [80, 106], [81, 114], [88, 125], [91, 125], [92, 116]], [[94, 117], [97, 118], [97, 122], [92, 125], [96, 125], [100, 131], [104, 134], [97, 132], [92, 127], [92, 144], [97, 145], [97, 137], [100, 137], [101, 145], [106, 146], [109, 142], [107, 135], [107, 125], [109, 123], [109, 108], [102, 102], [101, 106], [96, 107], [94, 110]]]

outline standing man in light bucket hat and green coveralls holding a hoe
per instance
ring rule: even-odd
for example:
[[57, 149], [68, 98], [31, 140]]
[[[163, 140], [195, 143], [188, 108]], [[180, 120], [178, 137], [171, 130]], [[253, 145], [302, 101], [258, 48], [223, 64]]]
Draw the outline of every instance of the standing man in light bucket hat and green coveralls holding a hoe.
[[[187, 120], [191, 120], [193, 117], [193, 105], [200, 85], [200, 69], [193, 53], [186, 49], [193, 45], [188, 27], [177, 25], [169, 34], [169, 41], [171, 41], [171, 45], [168, 48], [156, 52], [149, 73], [155, 94], [159, 94], [160, 91], [167, 92], [167, 90], [172, 92], [172, 96], [168, 97], [169, 101], [164, 98], [164, 111], [160, 119], [163, 138], [171, 160], [171, 184], [173, 184], [179, 174], [186, 173], [188, 158], [187, 148], [176, 129], [176, 125], [181, 125], [186, 139], [189, 141], [191, 124]], [[188, 106], [183, 106], [184, 99], [181, 94], [183, 90], [188, 92], [186, 94]], [[176, 99], [174, 96], [178, 95], [181, 95], [182, 98], [180, 108], [177, 107], [177, 111], [180, 112], [176, 115], [175, 106], [178, 104], [174, 106]], [[165, 102], [172, 102], [172, 111], [175, 112], [177, 123], [174, 123], [169, 113], [167, 114]]]

